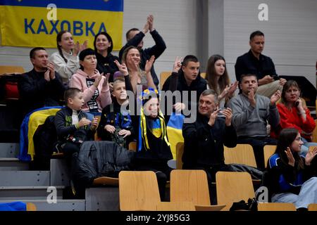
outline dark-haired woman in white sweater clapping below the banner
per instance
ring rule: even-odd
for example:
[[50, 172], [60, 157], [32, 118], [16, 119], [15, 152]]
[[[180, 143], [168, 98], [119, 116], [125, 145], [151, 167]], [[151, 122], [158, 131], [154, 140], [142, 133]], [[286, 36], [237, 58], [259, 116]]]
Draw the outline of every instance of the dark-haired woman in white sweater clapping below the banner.
[[68, 85], [70, 77], [80, 68], [78, 54], [80, 51], [87, 49], [87, 41], [80, 45], [74, 43], [73, 35], [63, 30], [56, 37], [57, 49], [51, 54], [49, 61], [54, 63], [55, 70], [61, 75], [63, 83]]

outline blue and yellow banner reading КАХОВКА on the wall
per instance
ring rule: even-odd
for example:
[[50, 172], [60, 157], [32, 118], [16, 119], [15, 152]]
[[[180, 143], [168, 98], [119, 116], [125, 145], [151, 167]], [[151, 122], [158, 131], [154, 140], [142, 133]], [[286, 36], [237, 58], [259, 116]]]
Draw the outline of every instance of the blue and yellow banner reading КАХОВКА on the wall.
[[56, 48], [56, 35], [68, 30], [75, 41], [108, 32], [113, 50], [122, 46], [123, 0], [0, 0], [3, 46]]

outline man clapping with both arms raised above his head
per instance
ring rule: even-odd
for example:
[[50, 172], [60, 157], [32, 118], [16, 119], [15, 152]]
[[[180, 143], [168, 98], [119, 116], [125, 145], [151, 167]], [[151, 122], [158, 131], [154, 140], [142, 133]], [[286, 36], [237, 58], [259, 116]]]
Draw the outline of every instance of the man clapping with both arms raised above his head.
[[[148, 31], [150, 31], [150, 34], [155, 41], [155, 45], [151, 46], [151, 48], [142, 49], [143, 48], [143, 40], [142, 39]], [[120, 60], [122, 59], [123, 52], [125, 51], [125, 49], [128, 48], [128, 46], [135, 46], [135, 47], [137, 47], [137, 49], [139, 49], [139, 53], [141, 54], [140, 68], [142, 70], [144, 70], [145, 64], [147, 63], [147, 60], [149, 60], [151, 58], [151, 56], [155, 56], [155, 59], [158, 59], [159, 56], [161, 56], [161, 54], [163, 53], [163, 51], [165, 51], [165, 49], [166, 49], [166, 44], [165, 44], [163, 38], [161, 37], [159, 32], [157, 32], [154, 29], [154, 17], [153, 17], [153, 15], [149, 15], [147, 17], [147, 23], [145, 23], [142, 31], [140, 31], [137, 28], [132, 28], [132, 29], [128, 30], [128, 32], [125, 34], [125, 37], [126, 37], [128, 42], [127, 42], [127, 44], [125, 44], [125, 46], [123, 46], [123, 48], [119, 52]], [[156, 86], [158, 86], [159, 79], [158, 79], [156, 72], [154, 70], [154, 65], [151, 68], [151, 75], [153, 77], [154, 84]]]

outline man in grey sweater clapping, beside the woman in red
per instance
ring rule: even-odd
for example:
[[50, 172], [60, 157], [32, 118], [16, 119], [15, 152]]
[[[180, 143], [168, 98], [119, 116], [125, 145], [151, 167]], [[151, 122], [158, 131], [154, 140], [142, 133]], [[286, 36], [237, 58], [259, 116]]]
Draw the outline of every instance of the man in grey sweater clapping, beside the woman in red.
[[270, 99], [256, 94], [257, 88], [256, 75], [242, 75], [242, 94], [232, 98], [229, 107], [233, 110], [232, 124], [237, 131], [237, 143], [249, 143], [254, 150], [256, 165], [264, 169], [263, 146], [277, 144], [277, 140], [268, 136], [266, 125], [268, 122], [271, 129], [278, 127], [280, 115], [275, 103], [281, 93], [276, 91]]

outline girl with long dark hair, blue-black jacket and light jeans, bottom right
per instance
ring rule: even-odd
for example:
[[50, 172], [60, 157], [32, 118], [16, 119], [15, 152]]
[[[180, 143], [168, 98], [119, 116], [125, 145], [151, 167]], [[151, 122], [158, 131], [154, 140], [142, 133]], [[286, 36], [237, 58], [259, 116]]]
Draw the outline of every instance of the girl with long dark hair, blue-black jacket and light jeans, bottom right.
[[273, 203], [294, 203], [297, 209], [317, 203], [317, 147], [300, 154], [303, 142], [294, 128], [282, 129], [275, 154], [268, 161], [268, 188]]

